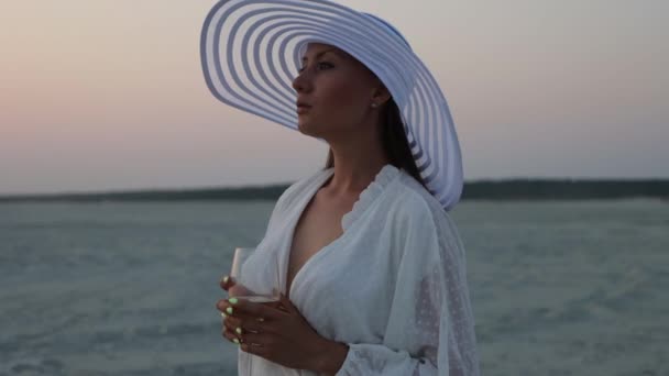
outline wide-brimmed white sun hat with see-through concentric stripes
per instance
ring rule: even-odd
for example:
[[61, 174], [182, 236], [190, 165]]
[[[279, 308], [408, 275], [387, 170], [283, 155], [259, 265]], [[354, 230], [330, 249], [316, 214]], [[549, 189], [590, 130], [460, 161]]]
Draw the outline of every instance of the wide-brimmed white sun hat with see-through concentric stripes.
[[326, 0], [221, 0], [201, 32], [207, 86], [229, 106], [297, 130], [292, 82], [309, 43], [347, 52], [385, 85], [420, 176], [450, 210], [460, 200], [463, 178], [446, 98], [404, 36], [379, 16]]

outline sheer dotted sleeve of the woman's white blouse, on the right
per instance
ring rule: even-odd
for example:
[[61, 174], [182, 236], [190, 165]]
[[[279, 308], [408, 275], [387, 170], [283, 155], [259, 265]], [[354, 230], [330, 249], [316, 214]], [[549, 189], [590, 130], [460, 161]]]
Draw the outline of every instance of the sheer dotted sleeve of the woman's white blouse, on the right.
[[462, 244], [447, 215], [430, 222], [407, 237], [408, 250], [427, 247], [429, 256], [403, 259], [413, 264], [399, 268], [397, 284], [410, 288], [395, 290], [384, 343], [348, 343], [336, 376], [480, 374]]

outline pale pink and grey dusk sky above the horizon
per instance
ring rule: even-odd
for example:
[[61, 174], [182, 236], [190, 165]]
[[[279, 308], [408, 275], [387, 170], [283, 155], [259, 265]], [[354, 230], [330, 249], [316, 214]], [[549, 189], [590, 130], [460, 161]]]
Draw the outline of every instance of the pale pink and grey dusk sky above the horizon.
[[[669, 2], [340, 2], [425, 59], [465, 180], [669, 178]], [[321, 167], [325, 144], [207, 89], [213, 4], [0, 1], [0, 195], [290, 183]]]

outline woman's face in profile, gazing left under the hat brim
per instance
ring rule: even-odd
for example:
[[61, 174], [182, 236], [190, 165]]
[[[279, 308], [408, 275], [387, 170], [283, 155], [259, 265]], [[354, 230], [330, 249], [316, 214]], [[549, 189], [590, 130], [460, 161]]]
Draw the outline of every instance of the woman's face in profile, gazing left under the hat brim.
[[293, 80], [299, 131], [323, 140], [350, 136], [374, 110], [371, 104], [379, 85], [374, 74], [346, 52], [309, 44]]

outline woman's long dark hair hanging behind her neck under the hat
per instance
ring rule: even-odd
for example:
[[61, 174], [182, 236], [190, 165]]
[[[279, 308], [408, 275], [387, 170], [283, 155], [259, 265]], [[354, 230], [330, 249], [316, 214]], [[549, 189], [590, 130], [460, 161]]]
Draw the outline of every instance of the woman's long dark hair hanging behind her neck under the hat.
[[[412, 150], [404, 132], [404, 121], [393, 98], [386, 101], [381, 111], [381, 142], [391, 165], [404, 169], [427, 189], [420, 177], [416, 162], [414, 162], [414, 155], [412, 155]], [[325, 168], [331, 167], [334, 167], [334, 156], [330, 148]]]

